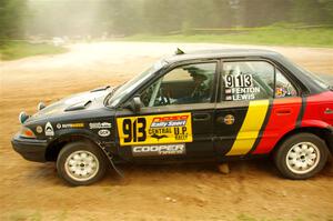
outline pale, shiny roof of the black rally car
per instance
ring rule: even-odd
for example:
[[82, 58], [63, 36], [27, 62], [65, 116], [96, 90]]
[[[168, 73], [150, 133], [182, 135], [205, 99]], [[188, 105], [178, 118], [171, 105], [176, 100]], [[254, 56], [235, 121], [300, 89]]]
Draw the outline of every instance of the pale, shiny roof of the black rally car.
[[263, 49], [210, 49], [185, 51], [181, 54], [173, 54], [164, 60], [169, 63], [194, 60], [194, 59], [218, 59], [218, 58], [246, 58], [246, 57], [265, 57], [265, 58], [283, 58], [280, 53]]

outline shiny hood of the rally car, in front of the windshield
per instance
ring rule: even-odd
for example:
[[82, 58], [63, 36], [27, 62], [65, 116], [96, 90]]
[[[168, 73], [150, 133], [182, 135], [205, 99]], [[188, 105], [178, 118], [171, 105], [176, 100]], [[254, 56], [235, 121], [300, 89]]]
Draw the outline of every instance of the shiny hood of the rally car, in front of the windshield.
[[103, 107], [105, 96], [112, 90], [113, 88], [111, 87], [102, 87], [61, 99], [33, 114], [27, 122], [43, 117], [51, 118], [58, 114], [73, 113]]

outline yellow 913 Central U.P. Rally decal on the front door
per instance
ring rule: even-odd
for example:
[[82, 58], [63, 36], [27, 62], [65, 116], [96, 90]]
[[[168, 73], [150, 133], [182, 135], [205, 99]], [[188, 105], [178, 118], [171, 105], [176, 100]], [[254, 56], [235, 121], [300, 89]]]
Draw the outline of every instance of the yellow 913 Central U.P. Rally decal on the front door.
[[192, 142], [189, 112], [119, 118], [117, 124], [121, 145]]

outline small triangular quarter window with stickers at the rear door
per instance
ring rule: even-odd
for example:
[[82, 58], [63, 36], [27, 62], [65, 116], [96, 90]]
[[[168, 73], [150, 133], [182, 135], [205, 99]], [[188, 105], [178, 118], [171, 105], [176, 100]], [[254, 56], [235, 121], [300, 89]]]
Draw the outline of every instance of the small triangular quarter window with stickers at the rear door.
[[295, 97], [296, 89], [293, 84], [276, 69], [275, 98]]

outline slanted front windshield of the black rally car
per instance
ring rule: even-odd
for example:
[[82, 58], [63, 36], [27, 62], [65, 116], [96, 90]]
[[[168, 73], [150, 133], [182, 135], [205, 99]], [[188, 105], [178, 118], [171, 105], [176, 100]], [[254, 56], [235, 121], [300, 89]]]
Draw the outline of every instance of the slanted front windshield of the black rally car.
[[117, 88], [114, 91], [112, 91], [112, 96], [108, 96], [107, 99], [109, 99], [105, 103], [109, 107], [115, 107], [119, 101], [127, 94], [129, 94], [131, 91], [133, 91], [137, 87], [139, 87], [142, 82], [144, 82], [152, 73], [159, 71], [167, 64], [167, 61], [159, 60], [155, 62], [152, 67], [143, 71], [142, 73], [135, 76], [121, 87]]

